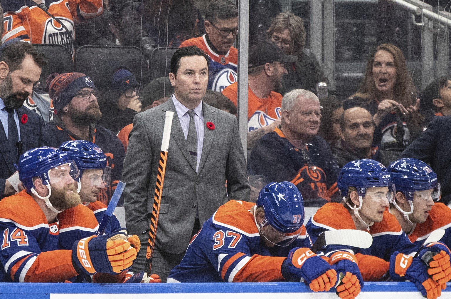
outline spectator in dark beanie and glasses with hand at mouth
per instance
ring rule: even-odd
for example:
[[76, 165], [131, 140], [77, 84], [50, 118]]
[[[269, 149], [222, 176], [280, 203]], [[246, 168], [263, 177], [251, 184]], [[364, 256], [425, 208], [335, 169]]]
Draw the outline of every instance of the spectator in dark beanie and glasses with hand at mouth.
[[136, 113], [141, 112], [139, 83], [124, 65], [99, 69], [93, 79], [99, 89], [97, 102], [102, 112], [102, 117], [96, 123], [117, 134], [133, 122]]

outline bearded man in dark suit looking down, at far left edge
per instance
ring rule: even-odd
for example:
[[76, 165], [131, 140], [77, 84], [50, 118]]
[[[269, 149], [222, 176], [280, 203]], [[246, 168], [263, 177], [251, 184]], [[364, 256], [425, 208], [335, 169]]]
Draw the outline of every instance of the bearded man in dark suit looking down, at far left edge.
[[[13, 195], [18, 156], [42, 145], [42, 118], [23, 106], [47, 61], [19, 39], [0, 47], [0, 199]], [[9, 178], [9, 180], [8, 180]]]

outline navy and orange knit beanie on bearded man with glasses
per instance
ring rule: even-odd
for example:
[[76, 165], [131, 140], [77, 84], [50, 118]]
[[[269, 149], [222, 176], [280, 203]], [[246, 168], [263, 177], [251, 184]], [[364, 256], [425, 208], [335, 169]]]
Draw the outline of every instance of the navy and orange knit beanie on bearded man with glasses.
[[64, 73], [57, 75], [49, 85], [49, 96], [52, 99], [56, 114], [60, 114], [63, 107], [74, 98], [75, 94], [85, 87], [97, 90], [91, 78], [82, 73]]

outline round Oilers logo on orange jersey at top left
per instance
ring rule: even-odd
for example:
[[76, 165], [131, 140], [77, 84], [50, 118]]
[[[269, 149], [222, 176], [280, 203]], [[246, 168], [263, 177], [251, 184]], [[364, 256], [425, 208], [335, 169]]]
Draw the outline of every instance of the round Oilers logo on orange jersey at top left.
[[69, 32], [54, 19], [49, 18], [46, 20], [44, 26], [44, 34], [42, 35], [43, 44], [60, 44], [69, 50], [69, 53], [74, 53], [74, 44], [72, 38], [74, 37], [74, 22], [71, 19], [57, 17]]

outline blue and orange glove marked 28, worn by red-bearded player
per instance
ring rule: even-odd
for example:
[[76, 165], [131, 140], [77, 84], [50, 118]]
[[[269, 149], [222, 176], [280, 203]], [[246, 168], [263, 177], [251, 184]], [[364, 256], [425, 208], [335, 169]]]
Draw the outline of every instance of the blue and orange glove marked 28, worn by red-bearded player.
[[126, 240], [124, 232], [115, 231], [103, 236], [91, 236], [72, 246], [72, 264], [78, 273], [94, 275], [120, 273], [133, 265], [136, 249]]

